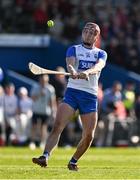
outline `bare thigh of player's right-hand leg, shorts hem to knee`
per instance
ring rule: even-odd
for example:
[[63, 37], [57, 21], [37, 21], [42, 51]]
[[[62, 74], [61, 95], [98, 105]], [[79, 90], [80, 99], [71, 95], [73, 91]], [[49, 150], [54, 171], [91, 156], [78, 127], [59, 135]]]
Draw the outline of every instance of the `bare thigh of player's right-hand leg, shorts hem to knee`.
[[90, 112], [81, 115], [81, 122], [83, 127], [83, 135], [93, 133], [97, 125], [98, 114], [97, 112]]

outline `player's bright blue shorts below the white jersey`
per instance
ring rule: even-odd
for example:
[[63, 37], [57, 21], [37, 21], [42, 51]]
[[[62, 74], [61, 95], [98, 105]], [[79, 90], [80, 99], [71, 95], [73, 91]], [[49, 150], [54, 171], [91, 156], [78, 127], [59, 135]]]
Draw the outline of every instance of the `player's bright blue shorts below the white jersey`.
[[97, 112], [97, 96], [85, 91], [67, 88], [63, 102], [69, 104], [75, 111], [78, 109], [80, 114]]

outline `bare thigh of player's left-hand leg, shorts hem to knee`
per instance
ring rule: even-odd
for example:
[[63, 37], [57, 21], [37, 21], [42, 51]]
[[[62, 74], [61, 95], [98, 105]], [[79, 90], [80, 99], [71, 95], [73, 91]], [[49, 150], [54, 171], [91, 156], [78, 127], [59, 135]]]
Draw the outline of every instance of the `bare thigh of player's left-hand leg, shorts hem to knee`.
[[72, 118], [75, 110], [67, 103], [61, 103], [58, 106], [54, 128], [64, 128], [68, 121]]

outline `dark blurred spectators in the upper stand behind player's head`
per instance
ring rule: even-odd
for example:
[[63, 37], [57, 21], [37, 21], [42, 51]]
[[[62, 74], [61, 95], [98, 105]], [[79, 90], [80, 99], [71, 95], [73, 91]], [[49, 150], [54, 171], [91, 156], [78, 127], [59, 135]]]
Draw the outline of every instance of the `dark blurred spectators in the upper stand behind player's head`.
[[[55, 26], [48, 28], [47, 20]], [[1, 0], [0, 33], [50, 33], [63, 43], [78, 43], [85, 22], [101, 27], [108, 60], [140, 69], [139, 0]]]

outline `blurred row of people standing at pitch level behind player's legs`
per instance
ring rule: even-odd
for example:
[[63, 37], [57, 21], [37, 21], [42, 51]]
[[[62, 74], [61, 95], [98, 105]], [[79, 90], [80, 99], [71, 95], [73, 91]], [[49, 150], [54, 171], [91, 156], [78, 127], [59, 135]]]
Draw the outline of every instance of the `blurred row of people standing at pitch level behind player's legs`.
[[[57, 67], [57, 71], [65, 71]], [[67, 79], [63, 75], [39, 76], [30, 90], [15, 89], [12, 82], [0, 86], [0, 146], [44, 148], [54, 123], [58, 104], [62, 101]], [[108, 89], [99, 84], [99, 121], [93, 146], [140, 145], [140, 94], [134, 82], [125, 86], [118, 81]], [[70, 119], [59, 146], [77, 145], [82, 125], [79, 113]]]

